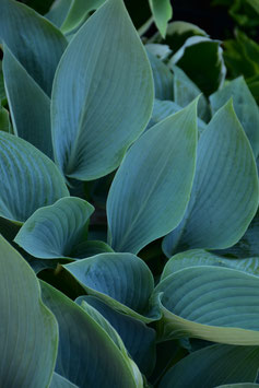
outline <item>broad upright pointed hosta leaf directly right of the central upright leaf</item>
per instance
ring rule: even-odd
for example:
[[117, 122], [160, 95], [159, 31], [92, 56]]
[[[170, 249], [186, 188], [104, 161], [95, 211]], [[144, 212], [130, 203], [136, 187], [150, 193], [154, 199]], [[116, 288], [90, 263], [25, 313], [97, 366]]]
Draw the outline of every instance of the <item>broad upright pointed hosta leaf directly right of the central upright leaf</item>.
[[164, 251], [170, 257], [176, 249], [229, 247], [257, 207], [255, 158], [229, 101], [200, 137], [191, 199], [180, 225], [164, 239]]

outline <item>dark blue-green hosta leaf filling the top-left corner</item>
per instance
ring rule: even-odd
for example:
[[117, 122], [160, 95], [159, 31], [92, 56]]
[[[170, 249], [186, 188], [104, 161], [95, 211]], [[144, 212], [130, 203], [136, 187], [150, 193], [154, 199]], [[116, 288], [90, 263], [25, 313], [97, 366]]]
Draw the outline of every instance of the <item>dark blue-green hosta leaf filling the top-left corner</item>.
[[31, 8], [13, 0], [0, 1], [0, 40], [28, 74], [50, 95], [52, 79], [67, 46], [61, 32]]

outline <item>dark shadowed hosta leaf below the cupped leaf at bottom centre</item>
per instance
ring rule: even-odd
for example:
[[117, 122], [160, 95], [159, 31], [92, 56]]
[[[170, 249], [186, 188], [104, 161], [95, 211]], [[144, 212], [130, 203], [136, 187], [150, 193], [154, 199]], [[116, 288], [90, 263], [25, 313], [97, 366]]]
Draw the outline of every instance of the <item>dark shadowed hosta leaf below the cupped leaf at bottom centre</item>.
[[121, 337], [140, 371], [149, 376], [155, 362], [155, 331], [140, 320], [116, 311], [94, 296], [80, 296], [76, 303], [82, 305], [83, 301], [96, 308], [109, 321]]

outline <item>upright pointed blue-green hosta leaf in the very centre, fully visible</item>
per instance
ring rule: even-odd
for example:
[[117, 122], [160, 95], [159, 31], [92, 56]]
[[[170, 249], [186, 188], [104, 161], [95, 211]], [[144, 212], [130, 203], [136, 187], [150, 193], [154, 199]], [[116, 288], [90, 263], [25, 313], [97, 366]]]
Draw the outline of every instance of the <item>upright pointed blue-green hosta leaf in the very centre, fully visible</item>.
[[181, 221], [196, 165], [197, 101], [149, 129], [129, 150], [111, 184], [111, 247], [137, 254]]

